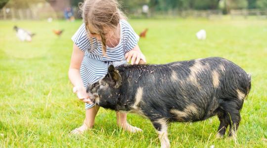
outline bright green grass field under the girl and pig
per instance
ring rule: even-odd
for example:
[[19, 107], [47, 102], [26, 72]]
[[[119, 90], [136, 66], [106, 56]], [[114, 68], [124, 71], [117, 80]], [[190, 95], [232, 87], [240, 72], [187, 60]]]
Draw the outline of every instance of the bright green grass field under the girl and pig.
[[[148, 28], [139, 46], [148, 63], [221, 56], [253, 76], [244, 102], [238, 141], [215, 135], [217, 117], [196, 123], [172, 123], [172, 148], [267, 147], [267, 21], [266, 20], [130, 20], [139, 33]], [[81, 21], [0, 21], [0, 148], [91, 147], [154, 148], [157, 134], [148, 119], [135, 114], [128, 121], [143, 129], [130, 134], [116, 126], [114, 111], [100, 109], [95, 126], [82, 136], [70, 135], [85, 117], [84, 104], [72, 93], [68, 67], [71, 36]], [[13, 25], [36, 33], [32, 42], [15, 37]], [[52, 29], [65, 29], [56, 37]], [[197, 40], [205, 29], [208, 38]]]

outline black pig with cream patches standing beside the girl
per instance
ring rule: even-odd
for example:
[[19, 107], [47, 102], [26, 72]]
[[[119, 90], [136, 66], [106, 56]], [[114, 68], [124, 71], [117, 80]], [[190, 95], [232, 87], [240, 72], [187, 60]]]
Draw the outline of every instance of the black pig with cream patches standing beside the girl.
[[87, 92], [100, 107], [135, 112], [156, 129], [161, 148], [169, 148], [170, 122], [196, 122], [217, 115], [218, 137], [236, 139], [240, 111], [251, 89], [251, 75], [220, 57], [163, 65], [109, 66]]

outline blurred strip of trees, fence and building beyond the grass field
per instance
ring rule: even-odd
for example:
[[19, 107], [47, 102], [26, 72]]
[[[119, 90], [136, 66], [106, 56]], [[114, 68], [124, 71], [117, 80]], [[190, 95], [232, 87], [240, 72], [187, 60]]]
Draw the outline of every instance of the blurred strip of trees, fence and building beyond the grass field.
[[[80, 18], [83, 0], [0, 0], [0, 19]], [[119, 0], [131, 18], [207, 17], [229, 14], [266, 18], [267, 0]], [[72, 14], [70, 14], [72, 13]]]

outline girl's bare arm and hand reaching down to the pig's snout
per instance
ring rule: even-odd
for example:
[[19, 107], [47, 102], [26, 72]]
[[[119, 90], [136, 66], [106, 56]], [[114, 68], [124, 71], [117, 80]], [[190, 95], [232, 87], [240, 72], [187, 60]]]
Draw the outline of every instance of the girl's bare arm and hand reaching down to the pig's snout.
[[84, 87], [80, 74], [84, 54], [85, 53], [74, 43], [69, 68], [69, 79], [74, 85], [73, 91], [77, 93], [78, 98], [85, 103], [92, 104], [89, 95], [86, 93], [86, 88]]

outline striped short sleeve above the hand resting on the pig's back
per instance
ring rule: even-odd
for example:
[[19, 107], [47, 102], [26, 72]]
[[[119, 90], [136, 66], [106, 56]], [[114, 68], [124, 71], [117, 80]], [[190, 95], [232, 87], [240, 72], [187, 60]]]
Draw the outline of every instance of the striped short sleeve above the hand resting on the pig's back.
[[139, 36], [134, 32], [134, 29], [127, 21], [124, 20], [123, 23], [125, 25], [125, 50], [128, 52], [137, 45]]

